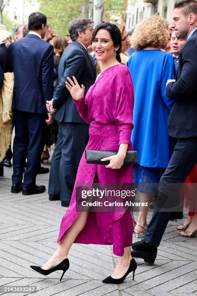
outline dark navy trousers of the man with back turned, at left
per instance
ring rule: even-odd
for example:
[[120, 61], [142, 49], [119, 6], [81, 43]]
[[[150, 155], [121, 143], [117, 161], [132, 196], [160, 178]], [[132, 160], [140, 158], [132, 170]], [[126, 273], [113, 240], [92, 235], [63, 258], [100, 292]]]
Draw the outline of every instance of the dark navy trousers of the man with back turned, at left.
[[23, 184], [35, 185], [44, 145], [44, 119], [45, 114], [14, 110], [13, 184], [22, 182], [27, 158]]

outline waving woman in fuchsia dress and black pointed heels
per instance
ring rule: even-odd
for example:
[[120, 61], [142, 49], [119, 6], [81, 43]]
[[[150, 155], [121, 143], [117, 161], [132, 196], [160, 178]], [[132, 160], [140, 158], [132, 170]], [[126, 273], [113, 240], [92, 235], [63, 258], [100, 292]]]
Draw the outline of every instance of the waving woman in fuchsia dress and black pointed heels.
[[[78, 183], [132, 183], [132, 165], [124, 165], [133, 128], [133, 83], [126, 66], [120, 64], [121, 34], [110, 23], [97, 26], [93, 33], [92, 48], [101, 61], [102, 72], [84, 99], [85, 86], [79, 86], [75, 77], [67, 77], [69, 89], [80, 116], [90, 124], [89, 150], [118, 150], [118, 153], [104, 160], [109, 165], [86, 163], [83, 154], [78, 167], [70, 207], [62, 218], [57, 242], [59, 246], [49, 261], [34, 270], [49, 274], [58, 269], [69, 268], [67, 258], [72, 243], [113, 245], [113, 252], [120, 256], [112, 276], [105, 283], [123, 282], [127, 274], [137, 267], [131, 258], [132, 218], [124, 212], [78, 212], [76, 211], [76, 185]], [[62, 261], [63, 260], [63, 261]], [[54, 267], [55, 266], [55, 267]], [[54, 270], [55, 268], [55, 270]]]

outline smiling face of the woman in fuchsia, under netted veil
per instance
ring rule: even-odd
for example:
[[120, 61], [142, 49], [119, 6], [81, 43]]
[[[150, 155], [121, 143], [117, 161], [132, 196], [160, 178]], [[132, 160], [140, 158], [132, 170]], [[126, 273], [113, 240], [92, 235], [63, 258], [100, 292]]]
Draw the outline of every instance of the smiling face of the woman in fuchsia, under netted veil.
[[119, 47], [113, 45], [112, 37], [108, 30], [100, 29], [92, 41], [92, 49], [96, 58], [101, 61], [115, 58], [114, 50]]

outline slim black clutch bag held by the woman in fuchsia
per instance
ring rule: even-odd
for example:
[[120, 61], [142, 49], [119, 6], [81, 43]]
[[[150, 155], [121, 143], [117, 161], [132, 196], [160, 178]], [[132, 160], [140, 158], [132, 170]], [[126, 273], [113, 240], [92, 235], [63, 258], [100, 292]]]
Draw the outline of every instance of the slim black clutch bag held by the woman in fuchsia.
[[[111, 150], [85, 150], [86, 163], [104, 164], [107, 165], [110, 162], [101, 162], [101, 159], [109, 156], [116, 155], [118, 151]], [[138, 163], [137, 151], [127, 151], [124, 159], [124, 164]]]

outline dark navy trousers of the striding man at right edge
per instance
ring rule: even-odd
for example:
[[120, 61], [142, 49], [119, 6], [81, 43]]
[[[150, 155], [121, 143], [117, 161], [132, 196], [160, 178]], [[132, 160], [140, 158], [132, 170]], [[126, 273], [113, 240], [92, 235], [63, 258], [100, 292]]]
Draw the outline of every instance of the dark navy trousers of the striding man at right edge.
[[[162, 188], [165, 188], [166, 183], [183, 183], [196, 163], [197, 137], [179, 139], [174, 148], [173, 154], [169, 161], [169, 165], [166, 171], [164, 172], [163, 176], [161, 177], [159, 183], [160, 189], [158, 191], [155, 209], [160, 207], [160, 205], [162, 204], [162, 200], [163, 202], [165, 202], [165, 200], [168, 199], [168, 196], [161, 192]], [[177, 188], [175, 194], [176, 193]], [[174, 198], [178, 200], [178, 196], [174, 195]], [[172, 201], [172, 204], [175, 203], [173, 203]], [[166, 230], [170, 216], [170, 211], [165, 212], [154, 210], [153, 217], [148, 225], [148, 229], [144, 235], [143, 240], [149, 243], [150, 245], [158, 247]]]

